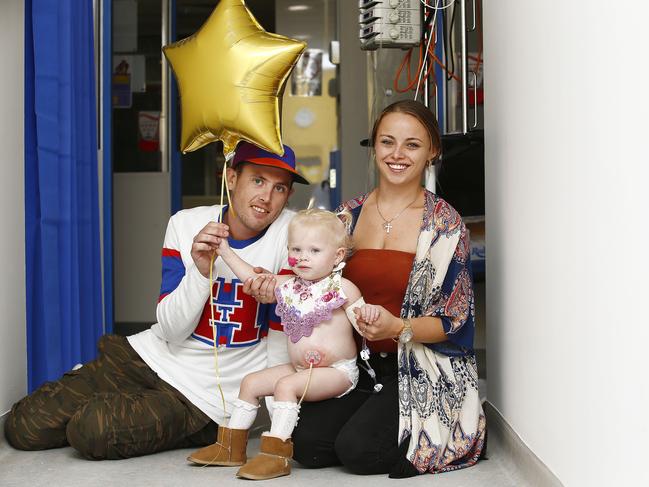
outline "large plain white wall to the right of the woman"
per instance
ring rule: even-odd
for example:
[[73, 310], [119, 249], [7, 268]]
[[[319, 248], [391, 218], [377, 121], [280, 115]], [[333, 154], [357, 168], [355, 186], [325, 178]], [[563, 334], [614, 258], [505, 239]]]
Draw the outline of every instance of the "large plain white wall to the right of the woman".
[[649, 2], [484, 2], [489, 400], [568, 486], [649, 485]]

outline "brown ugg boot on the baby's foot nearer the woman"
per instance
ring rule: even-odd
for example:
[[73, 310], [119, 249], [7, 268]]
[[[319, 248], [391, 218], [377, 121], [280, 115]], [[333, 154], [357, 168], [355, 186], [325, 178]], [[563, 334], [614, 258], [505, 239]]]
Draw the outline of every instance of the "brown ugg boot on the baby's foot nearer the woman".
[[276, 436], [261, 435], [259, 454], [239, 469], [237, 477], [250, 480], [267, 480], [291, 473], [289, 460], [293, 457], [293, 442]]

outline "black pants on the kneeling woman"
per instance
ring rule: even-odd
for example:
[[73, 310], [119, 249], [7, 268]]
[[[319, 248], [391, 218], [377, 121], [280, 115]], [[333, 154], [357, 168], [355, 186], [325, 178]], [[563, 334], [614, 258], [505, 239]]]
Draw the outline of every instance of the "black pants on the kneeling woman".
[[381, 392], [372, 392], [374, 382], [361, 369], [359, 384], [349, 394], [302, 404], [293, 458], [303, 466], [342, 464], [356, 474], [380, 474], [389, 473], [401, 456], [396, 354], [373, 354], [370, 362], [383, 384]]

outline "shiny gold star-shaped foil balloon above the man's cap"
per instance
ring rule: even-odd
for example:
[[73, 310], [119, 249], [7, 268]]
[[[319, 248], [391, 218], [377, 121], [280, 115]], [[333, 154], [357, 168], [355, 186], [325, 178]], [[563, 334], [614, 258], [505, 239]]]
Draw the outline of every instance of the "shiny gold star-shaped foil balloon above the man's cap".
[[180, 91], [183, 153], [247, 140], [283, 154], [279, 98], [306, 44], [266, 32], [243, 0], [221, 0], [192, 36], [162, 48]]

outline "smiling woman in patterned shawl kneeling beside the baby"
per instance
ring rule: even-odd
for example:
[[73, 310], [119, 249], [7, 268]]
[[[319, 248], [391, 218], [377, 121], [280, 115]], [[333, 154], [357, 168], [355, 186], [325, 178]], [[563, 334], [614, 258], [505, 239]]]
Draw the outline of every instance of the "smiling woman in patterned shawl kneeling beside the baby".
[[371, 142], [378, 187], [343, 205], [355, 248], [344, 275], [381, 305], [376, 322], [359, 321], [370, 367], [359, 360], [368, 373], [351, 394], [303, 404], [294, 458], [391, 477], [467, 467], [486, 425], [468, 235], [458, 213], [421, 185], [440, 156], [437, 121], [424, 105], [399, 101], [378, 117]]

